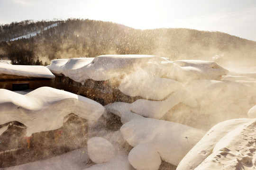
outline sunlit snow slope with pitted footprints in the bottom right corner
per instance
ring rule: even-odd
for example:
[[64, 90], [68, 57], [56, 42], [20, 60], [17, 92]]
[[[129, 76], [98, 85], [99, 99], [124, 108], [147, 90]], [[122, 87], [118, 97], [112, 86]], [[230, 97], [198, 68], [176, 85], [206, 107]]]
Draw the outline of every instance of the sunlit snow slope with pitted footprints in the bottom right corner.
[[256, 119], [231, 119], [212, 127], [177, 170], [246, 170], [256, 162]]

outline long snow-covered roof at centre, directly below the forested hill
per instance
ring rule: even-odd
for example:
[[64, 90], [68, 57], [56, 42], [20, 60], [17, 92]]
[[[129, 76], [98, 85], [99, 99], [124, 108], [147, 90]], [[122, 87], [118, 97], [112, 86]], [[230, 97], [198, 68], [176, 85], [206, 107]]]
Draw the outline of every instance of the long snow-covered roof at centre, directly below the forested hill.
[[[101, 55], [95, 58], [55, 59], [47, 66], [54, 74], [63, 74], [83, 83], [86, 79], [108, 80], [112, 77], [144, 70], [149, 74], [212, 79], [226, 75], [228, 70], [212, 61], [168, 59], [152, 55]], [[173, 76], [175, 77], [173, 77]]]

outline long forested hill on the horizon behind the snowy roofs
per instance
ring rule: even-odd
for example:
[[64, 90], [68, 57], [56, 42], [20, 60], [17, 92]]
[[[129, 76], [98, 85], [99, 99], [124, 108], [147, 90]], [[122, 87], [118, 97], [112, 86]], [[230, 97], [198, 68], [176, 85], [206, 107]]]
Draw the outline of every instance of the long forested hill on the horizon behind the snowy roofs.
[[[47, 26], [57, 23], [54, 27]], [[10, 41], [36, 32], [35, 36]], [[15, 64], [42, 64], [52, 59], [101, 54], [149, 54], [217, 62], [256, 61], [256, 42], [221, 32], [184, 28], [138, 30], [88, 19], [31, 20], [0, 26], [0, 59]], [[42, 60], [39, 62], [39, 60]], [[45, 64], [47, 64], [45, 63]]]

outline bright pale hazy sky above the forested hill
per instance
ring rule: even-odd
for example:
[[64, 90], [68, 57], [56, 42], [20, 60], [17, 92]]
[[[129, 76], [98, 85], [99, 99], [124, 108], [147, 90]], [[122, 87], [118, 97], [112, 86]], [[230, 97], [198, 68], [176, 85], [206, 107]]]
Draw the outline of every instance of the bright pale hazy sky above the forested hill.
[[53, 18], [220, 31], [256, 41], [256, 0], [0, 0], [0, 24]]

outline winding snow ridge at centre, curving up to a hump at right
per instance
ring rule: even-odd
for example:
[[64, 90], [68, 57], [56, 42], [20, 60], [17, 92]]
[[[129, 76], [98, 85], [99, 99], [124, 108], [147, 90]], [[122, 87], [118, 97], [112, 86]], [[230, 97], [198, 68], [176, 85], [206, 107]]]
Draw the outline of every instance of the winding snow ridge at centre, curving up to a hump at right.
[[133, 103], [114, 102], [105, 106], [105, 108], [119, 116], [123, 123], [131, 119], [141, 118], [141, 116], [153, 119], [161, 119], [165, 113], [176, 104], [183, 102], [189, 106], [195, 107], [197, 101], [186, 91], [172, 93], [164, 101], [150, 101], [138, 99]]

